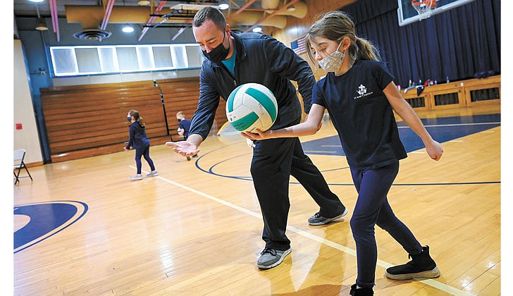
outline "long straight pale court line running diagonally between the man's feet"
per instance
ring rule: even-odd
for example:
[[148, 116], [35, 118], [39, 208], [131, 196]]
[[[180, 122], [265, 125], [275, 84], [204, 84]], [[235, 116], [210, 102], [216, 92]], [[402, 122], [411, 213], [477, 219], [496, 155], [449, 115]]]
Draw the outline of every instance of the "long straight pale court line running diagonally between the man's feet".
[[[129, 167], [132, 168], [132, 169], [136, 169], [135, 166], [129, 166]], [[149, 173], [149, 171], [144, 171], [144, 170], [142, 172]], [[242, 206], [237, 206], [236, 204], [232, 204], [231, 202], [226, 202], [225, 200], [220, 199], [218, 197], [213, 197], [211, 195], [207, 195], [204, 192], [192, 189], [191, 187], [187, 187], [187, 186], [185, 186], [183, 184], [174, 182], [172, 180], [168, 180], [166, 178], [163, 178], [160, 175], [157, 175], [157, 176], [152, 177], [152, 178], [158, 178], [159, 180], [163, 180], [164, 182], [169, 183], [171, 185], [175, 185], [177, 187], [180, 187], [180, 188], [183, 188], [183, 189], [185, 189], [187, 191], [190, 191], [190, 192], [192, 192], [194, 194], [200, 195], [202, 197], [206, 197], [207, 199], [211, 199], [214, 202], [218, 202], [218, 203], [223, 204], [225, 206], [228, 206], [228, 207], [230, 207], [232, 209], [236, 209], [237, 211], [242, 211], [242, 213], [247, 214], [249, 216], [253, 216], [254, 218], [262, 219], [261, 214], [257, 214], [257, 213], [255, 213], [253, 211], [249, 211], [248, 209], [245, 209]], [[301, 230], [299, 228], [295, 228], [294, 226], [287, 226], [287, 229], [292, 231], [293, 233], [296, 233], [298, 235], [302, 235], [304, 238], [309, 238], [309, 239], [314, 240], [316, 242], [319, 242], [319, 243], [321, 243], [323, 245], [327, 245], [329, 247], [333, 247], [335, 249], [340, 250], [341, 252], [345, 252], [346, 254], [350, 254], [350, 255], [356, 257], [357, 252], [354, 249], [351, 249], [349, 247], [345, 247], [343, 245], [340, 245], [340, 244], [338, 244], [336, 242], [332, 242], [330, 240], [326, 240], [325, 238], [320, 238], [317, 235], [313, 235], [311, 233], [308, 233], [307, 231]], [[390, 264], [390, 263], [388, 263], [386, 261], [383, 261], [383, 260], [380, 260], [380, 259], [378, 259], [376, 264], [378, 266], [381, 266], [381, 267], [385, 268], [385, 269], [390, 267], [390, 266], [393, 266], [393, 264]], [[459, 290], [458, 288], [452, 287], [451, 285], [447, 285], [445, 283], [440, 283], [438, 280], [433, 280], [431, 278], [428, 278], [428, 279], [425, 279], [425, 280], [416, 280], [416, 281], [419, 281], [421, 283], [429, 285], [429, 286], [431, 286], [431, 287], [433, 287], [435, 289], [441, 290], [443, 292], [447, 292], [447, 293], [449, 293], [451, 295], [457, 295], [457, 296], [459, 296], [459, 295], [462, 295], [462, 296], [463, 295], [466, 295], [466, 296], [467, 295], [473, 295], [473, 294], [471, 294], [469, 292], [465, 292], [465, 291]]]

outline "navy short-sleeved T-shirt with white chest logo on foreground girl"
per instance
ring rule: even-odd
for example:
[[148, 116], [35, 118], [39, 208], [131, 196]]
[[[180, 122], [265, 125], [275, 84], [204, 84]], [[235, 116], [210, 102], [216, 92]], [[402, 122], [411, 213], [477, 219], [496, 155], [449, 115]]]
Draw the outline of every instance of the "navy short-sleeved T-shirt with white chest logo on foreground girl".
[[314, 85], [312, 104], [328, 109], [354, 169], [380, 168], [407, 157], [383, 94], [393, 79], [383, 63], [357, 59], [346, 73], [330, 72]]

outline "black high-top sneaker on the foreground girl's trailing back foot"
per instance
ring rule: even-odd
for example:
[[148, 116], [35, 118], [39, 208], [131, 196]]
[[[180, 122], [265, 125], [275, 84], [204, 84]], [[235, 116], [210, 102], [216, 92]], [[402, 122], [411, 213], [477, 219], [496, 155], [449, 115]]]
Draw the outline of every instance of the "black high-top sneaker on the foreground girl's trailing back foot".
[[391, 280], [411, 280], [412, 278], [438, 278], [440, 270], [429, 256], [429, 247], [422, 247], [421, 254], [409, 254], [407, 264], [389, 267], [385, 276]]

